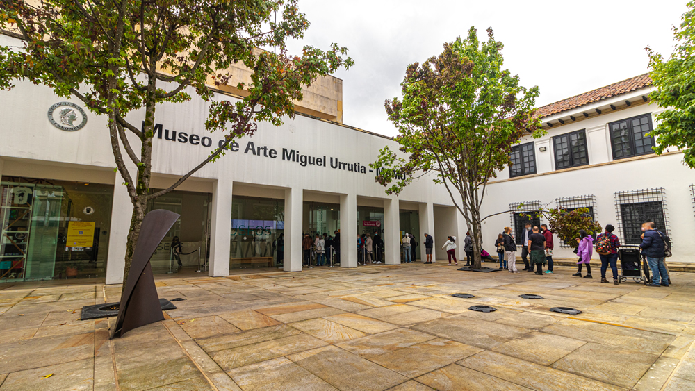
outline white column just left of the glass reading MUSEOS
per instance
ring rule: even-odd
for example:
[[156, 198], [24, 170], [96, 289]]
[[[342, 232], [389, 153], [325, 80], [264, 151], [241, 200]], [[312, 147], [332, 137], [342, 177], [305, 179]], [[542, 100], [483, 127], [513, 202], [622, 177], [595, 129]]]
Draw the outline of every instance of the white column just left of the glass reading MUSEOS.
[[210, 219], [210, 268], [208, 276], [229, 276], [229, 247], [231, 242], [231, 190], [234, 182], [220, 178], [213, 182], [213, 201]]

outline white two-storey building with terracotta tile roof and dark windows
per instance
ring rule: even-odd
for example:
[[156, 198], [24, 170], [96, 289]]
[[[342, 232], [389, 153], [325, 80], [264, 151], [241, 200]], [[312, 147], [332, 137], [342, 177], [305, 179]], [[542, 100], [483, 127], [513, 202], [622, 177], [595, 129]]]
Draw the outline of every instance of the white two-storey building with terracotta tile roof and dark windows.
[[[653, 89], [644, 74], [539, 108], [548, 134], [519, 142], [512, 155], [516, 164], [489, 183], [482, 215], [520, 205], [588, 207], [600, 224], [616, 227], [623, 247], [637, 246], [641, 223], [653, 221], [671, 237], [669, 261], [695, 261], [689, 239], [695, 233], [695, 171], [683, 165], [676, 149], [653, 153], [658, 140], [646, 133], [663, 110], [648, 99]], [[515, 213], [490, 217], [484, 237], [495, 238], [505, 226], [519, 232], [524, 222]], [[554, 253], [575, 257], [558, 244]]]

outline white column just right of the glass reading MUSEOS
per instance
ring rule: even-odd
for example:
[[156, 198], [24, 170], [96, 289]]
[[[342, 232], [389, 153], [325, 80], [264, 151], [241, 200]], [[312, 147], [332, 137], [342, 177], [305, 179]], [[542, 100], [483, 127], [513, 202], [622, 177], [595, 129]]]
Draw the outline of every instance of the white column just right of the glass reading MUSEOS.
[[285, 272], [302, 271], [302, 202], [304, 190], [285, 190]]

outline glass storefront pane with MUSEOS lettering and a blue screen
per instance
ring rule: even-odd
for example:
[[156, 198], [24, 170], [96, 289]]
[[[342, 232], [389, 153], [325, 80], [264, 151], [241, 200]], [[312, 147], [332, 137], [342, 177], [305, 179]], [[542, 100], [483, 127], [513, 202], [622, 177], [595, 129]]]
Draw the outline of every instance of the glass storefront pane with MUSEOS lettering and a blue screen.
[[281, 267], [284, 215], [284, 199], [232, 197], [230, 269]]

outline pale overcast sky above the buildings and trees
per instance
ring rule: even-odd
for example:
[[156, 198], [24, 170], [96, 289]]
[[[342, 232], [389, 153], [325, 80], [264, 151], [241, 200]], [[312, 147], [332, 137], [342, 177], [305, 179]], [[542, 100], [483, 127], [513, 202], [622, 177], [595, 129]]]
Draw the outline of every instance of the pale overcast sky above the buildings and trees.
[[685, 12], [685, 0], [299, 3], [311, 22], [303, 43], [327, 49], [337, 42], [355, 61], [335, 75], [343, 79], [343, 122], [384, 135], [396, 133], [384, 99], [400, 95], [407, 65], [441, 53], [443, 42], [471, 26], [482, 40], [494, 29], [505, 67], [522, 85], [539, 86], [542, 106], [647, 72], [644, 47], [671, 53], [671, 26]]

